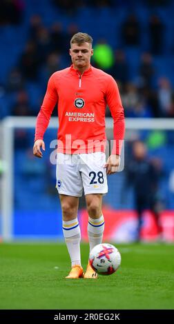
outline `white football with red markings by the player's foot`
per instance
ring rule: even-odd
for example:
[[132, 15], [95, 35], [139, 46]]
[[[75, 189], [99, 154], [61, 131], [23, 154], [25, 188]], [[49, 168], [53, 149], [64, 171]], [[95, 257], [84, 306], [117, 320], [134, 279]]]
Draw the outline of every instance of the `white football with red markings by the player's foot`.
[[113, 274], [121, 263], [121, 254], [114, 245], [101, 243], [90, 251], [89, 262], [98, 274]]

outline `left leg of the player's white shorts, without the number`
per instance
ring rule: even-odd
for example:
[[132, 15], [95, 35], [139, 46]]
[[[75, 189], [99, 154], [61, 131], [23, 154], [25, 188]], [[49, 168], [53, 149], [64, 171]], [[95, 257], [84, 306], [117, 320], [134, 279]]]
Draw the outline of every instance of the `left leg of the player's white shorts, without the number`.
[[59, 194], [81, 196], [83, 184], [79, 173], [77, 156], [57, 154], [56, 178], [56, 187]]

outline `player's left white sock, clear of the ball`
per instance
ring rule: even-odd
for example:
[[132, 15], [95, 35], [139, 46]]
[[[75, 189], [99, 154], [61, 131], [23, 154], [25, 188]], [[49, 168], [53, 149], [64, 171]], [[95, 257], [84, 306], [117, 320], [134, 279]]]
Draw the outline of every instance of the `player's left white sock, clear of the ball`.
[[78, 219], [72, 221], [63, 221], [63, 232], [66, 246], [70, 255], [71, 266], [81, 265], [80, 241], [81, 232]]

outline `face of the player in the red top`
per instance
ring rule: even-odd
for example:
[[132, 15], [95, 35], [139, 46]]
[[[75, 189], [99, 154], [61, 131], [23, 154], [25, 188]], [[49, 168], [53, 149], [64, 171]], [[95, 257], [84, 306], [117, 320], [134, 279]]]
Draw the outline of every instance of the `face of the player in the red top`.
[[90, 43], [84, 42], [78, 45], [72, 43], [70, 48], [70, 56], [72, 64], [76, 69], [86, 69], [90, 65], [90, 57], [93, 55], [93, 48]]

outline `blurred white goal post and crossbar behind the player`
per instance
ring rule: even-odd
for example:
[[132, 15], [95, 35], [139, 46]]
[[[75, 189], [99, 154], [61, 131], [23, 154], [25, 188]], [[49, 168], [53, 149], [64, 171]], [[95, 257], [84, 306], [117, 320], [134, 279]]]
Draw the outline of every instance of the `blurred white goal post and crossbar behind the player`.
[[[7, 117], [1, 121], [2, 156], [6, 165], [2, 174], [1, 190], [1, 232], [3, 241], [13, 240], [12, 211], [14, 196], [14, 130], [17, 128], [35, 128], [35, 117]], [[57, 117], [50, 119], [48, 128], [57, 128]], [[113, 119], [106, 118], [106, 130], [113, 130]], [[126, 119], [126, 130], [174, 130], [173, 119]]]

